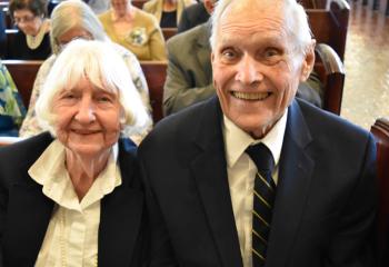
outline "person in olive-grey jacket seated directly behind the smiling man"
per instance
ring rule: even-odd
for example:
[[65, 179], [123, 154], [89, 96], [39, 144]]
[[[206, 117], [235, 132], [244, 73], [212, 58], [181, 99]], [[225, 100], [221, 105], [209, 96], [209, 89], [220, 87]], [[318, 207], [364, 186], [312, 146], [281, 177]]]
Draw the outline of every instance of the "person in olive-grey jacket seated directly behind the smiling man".
[[[207, 12], [212, 13], [216, 2], [203, 1]], [[167, 42], [169, 62], [163, 86], [163, 112], [167, 116], [216, 93], [210, 60], [210, 24], [209, 20]], [[297, 90], [297, 97], [317, 107], [322, 107], [321, 95], [322, 85], [317, 73], [311, 73]]]

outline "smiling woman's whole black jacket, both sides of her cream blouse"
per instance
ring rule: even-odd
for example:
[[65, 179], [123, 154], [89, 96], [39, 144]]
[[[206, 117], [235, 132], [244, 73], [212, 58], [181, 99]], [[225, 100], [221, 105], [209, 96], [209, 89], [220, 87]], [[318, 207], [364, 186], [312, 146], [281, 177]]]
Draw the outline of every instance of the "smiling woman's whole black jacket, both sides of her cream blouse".
[[[48, 132], [0, 149], [0, 266], [33, 266], [54, 202], [28, 169], [52, 141]], [[120, 140], [122, 185], [101, 200], [99, 266], [143, 266], [147, 238], [136, 146]]]

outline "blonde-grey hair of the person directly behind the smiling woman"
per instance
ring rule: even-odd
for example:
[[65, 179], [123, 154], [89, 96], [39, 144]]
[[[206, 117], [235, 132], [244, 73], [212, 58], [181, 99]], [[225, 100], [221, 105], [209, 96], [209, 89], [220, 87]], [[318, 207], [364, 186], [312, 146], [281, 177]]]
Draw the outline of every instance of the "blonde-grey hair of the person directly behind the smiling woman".
[[83, 1], [67, 0], [60, 2], [51, 13], [50, 43], [53, 53], [59, 53], [58, 38], [71, 29], [88, 31], [93, 40], [109, 40], [93, 10]]

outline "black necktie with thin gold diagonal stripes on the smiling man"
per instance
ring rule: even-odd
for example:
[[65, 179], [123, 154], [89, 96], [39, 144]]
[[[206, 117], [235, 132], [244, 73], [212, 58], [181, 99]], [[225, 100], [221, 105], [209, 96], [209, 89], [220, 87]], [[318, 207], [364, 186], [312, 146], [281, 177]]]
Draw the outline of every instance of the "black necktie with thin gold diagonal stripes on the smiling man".
[[270, 150], [258, 144], [246, 149], [257, 166], [252, 209], [252, 266], [265, 266], [270, 231], [271, 212], [276, 197], [276, 184], [271, 177], [275, 160]]

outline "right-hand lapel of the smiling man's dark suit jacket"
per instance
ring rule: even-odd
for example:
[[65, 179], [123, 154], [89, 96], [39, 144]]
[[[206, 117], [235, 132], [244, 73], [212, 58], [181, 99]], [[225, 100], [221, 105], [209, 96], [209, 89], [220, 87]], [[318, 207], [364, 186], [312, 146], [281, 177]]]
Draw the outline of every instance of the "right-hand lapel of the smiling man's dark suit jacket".
[[295, 100], [289, 108], [279, 164], [279, 185], [269, 237], [267, 267], [286, 266], [298, 235], [315, 167], [308, 150], [310, 141], [309, 129]]

